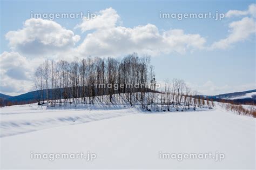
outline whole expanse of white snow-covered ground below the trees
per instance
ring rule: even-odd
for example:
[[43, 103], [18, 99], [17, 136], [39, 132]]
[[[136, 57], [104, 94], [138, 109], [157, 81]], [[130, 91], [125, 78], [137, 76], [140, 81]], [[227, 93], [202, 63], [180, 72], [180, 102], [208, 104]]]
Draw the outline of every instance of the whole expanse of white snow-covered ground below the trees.
[[[55, 109], [30, 104], [0, 112], [1, 169], [255, 169], [255, 119], [218, 105], [207, 111], [153, 113], [122, 104]], [[81, 152], [97, 158], [31, 159], [31, 153]], [[216, 152], [225, 158], [159, 158], [161, 153]]]

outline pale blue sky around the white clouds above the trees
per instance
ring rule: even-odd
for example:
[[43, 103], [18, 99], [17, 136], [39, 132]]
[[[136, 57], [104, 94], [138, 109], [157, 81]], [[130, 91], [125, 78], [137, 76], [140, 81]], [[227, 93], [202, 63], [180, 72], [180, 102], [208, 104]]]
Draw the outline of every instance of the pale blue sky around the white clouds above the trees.
[[[53, 58], [52, 56], [57, 56], [56, 59], [60, 59], [61, 57], [59, 56], [63, 56], [59, 52], [54, 54], [48, 52], [45, 54], [36, 53], [28, 55], [24, 49], [21, 49], [26, 46], [26, 43], [20, 40], [23, 44], [18, 44], [18, 46], [14, 37], [12, 37], [14, 34], [10, 34], [9, 38], [6, 38], [6, 34], [9, 31], [24, 29], [23, 23], [30, 19], [31, 11], [38, 13], [77, 13], [81, 11], [86, 13], [90, 11], [100, 15], [98, 13], [100, 10], [109, 8], [118, 15], [118, 21], [114, 22], [115, 26], [122, 26], [122, 28], [128, 30], [129, 28], [136, 28], [139, 25], [142, 26], [142, 29], [157, 29], [157, 32], [160, 34], [159, 38], [163, 38], [164, 34], [169, 30], [183, 30], [182, 37], [179, 37], [179, 33], [178, 35], [175, 33], [174, 39], [192, 39], [191, 43], [179, 43], [170, 46], [170, 49], [165, 44], [163, 44], [163, 48], [161, 48], [161, 44], [157, 44], [159, 45], [157, 46], [159, 49], [157, 53], [152, 52], [152, 45], [154, 45], [152, 42], [150, 42], [149, 46], [142, 44], [142, 48], [144, 48], [142, 51], [134, 47], [133, 52], [148, 52], [147, 54], [152, 56], [151, 63], [155, 66], [157, 80], [164, 81], [166, 78], [181, 78], [190, 84], [193, 89], [204, 94], [219, 94], [255, 89], [255, 16], [252, 10], [251, 13], [248, 12], [248, 6], [254, 3], [255, 1], [1, 1], [1, 65], [5, 65], [4, 62], [9, 62], [8, 64], [10, 66], [5, 69], [2, 68], [0, 92], [15, 95], [32, 90], [32, 75], [29, 73], [30, 66], [16, 68], [17, 65], [25, 62], [25, 60], [28, 60], [27, 63], [36, 65], [36, 63], [40, 62], [39, 58], [41, 57]], [[227, 13], [230, 10], [238, 11], [233, 11], [231, 17], [225, 17], [221, 21], [214, 21], [212, 18], [186, 18], [181, 21], [174, 18], [159, 18], [159, 11], [168, 13], [212, 12], [215, 14], [215, 11]], [[244, 13], [239, 11], [244, 11]], [[111, 17], [109, 16], [110, 19]], [[247, 19], [247, 22], [244, 18]], [[52, 22], [56, 22], [62, 28], [70, 30], [74, 35], [80, 37], [79, 40], [71, 40], [70, 43], [73, 43], [73, 46], [70, 47], [71, 50], [72, 48], [79, 49], [79, 46], [83, 44], [84, 39], [86, 39], [89, 33], [99, 32], [102, 29], [100, 26], [92, 26], [92, 29], [87, 29], [87, 31], [83, 32], [84, 26], [88, 24], [85, 23], [82, 25], [83, 21], [81, 18], [57, 18]], [[231, 27], [230, 24], [232, 22], [239, 23]], [[250, 22], [254, 23], [252, 23], [254, 28], [250, 25], [252, 28], [247, 29], [248, 26], [245, 24], [250, 24]], [[80, 27], [75, 28], [79, 24]], [[151, 24], [151, 26], [145, 26], [147, 24]], [[47, 31], [49, 32], [51, 30]], [[138, 30], [133, 29], [132, 31], [136, 32]], [[27, 32], [27, 34], [29, 33]], [[32, 34], [33, 32], [31, 32]], [[21, 31], [15, 35], [17, 39], [23, 38], [19, 38], [18, 36], [24, 36]], [[100, 35], [98, 33], [95, 37]], [[191, 35], [199, 35], [200, 38], [191, 37]], [[228, 38], [228, 36], [230, 38], [224, 41], [224, 43], [226, 42], [225, 44], [229, 43], [227, 47], [222, 47], [221, 45], [223, 43], [219, 43], [220, 45], [218, 47], [212, 47], [214, 42], [219, 42], [221, 39]], [[115, 40], [114, 38], [116, 37], [113, 36], [112, 39], [111, 37], [107, 38], [111, 41]], [[171, 43], [173, 40], [172, 36], [169, 39]], [[167, 38], [165, 40], [169, 39]], [[203, 39], [205, 40], [204, 43], [193, 45], [193, 41]], [[99, 37], [98, 40], [100, 41], [102, 39]], [[126, 43], [126, 48], [129, 48], [130, 42], [126, 42], [125, 39], [121, 40], [122, 43]], [[88, 39], [88, 42], [93, 43], [93, 40]], [[142, 40], [141, 43], [147, 43], [147, 39]], [[30, 46], [26, 47], [26, 49], [31, 49], [31, 47], [37, 49], [36, 45], [38, 44], [38, 42], [31, 42]], [[133, 45], [131, 44], [131, 46]], [[185, 48], [185, 52], [177, 51], [179, 47]], [[91, 50], [99, 48], [99, 46], [97, 48], [91, 47]], [[113, 49], [113, 46], [110, 46], [110, 48], [104, 49], [107, 52], [110, 51], [108, 53], [109, 55], [127, 55], [125, 53], [127, 50], [125, 49], [123, 51], [117, 51]], [[117, 49], [122, 49], [122, 47], [117, 47]], [[92, 54], [88, 51], [83, 51], [83, 55], [100, 56], [105, 52], [104, 50], [99, 53], [93, 51]], [[82, 52], [79, 51], [79, 53]], [[12, 66], [10, 64], [12, 63], [11, 59], [17, 56], [21, 58], [21, 63]], [[11, 67], [16, 69], [10, 71]], [[24, 69], [24, 75], [17, 77], [11, 74], [19, 69]], [[24, 77], [24, 79], [21, 79], [21, 77]]]

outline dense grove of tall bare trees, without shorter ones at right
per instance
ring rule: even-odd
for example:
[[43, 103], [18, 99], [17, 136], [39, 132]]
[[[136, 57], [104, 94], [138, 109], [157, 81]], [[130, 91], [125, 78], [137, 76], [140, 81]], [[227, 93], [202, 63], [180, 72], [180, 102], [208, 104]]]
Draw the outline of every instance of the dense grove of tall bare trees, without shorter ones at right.
[[107, 95], [106, 103], [115, 103], [115, 96], [115, 99], [126, 99], [131, 105], [139, 101], [146, 108], [145, 92], [153, 90], [150, 85], [153, 78], [148, 79], [149, 67], [150, 57], [138, 57], [136, 53], [123, 59], [45, 60], [35, 72], [38, 104], [44, 101], [50, 106], [94, 104], [95, 98], [103, 101], [103, 95]]

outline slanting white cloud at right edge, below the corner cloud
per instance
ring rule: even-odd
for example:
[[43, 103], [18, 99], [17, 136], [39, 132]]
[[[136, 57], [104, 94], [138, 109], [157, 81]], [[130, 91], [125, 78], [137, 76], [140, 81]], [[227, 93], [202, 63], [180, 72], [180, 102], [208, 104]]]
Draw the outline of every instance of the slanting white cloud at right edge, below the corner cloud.
[[234, 43], [238, 43], [248, 39], [251, 35], [255, 35], [256, 22], [253, 18], [245, 17], [240, 21], [230, 23], [230, 35], [225, 39], [214, 42], [211, 49], [226, 49]]

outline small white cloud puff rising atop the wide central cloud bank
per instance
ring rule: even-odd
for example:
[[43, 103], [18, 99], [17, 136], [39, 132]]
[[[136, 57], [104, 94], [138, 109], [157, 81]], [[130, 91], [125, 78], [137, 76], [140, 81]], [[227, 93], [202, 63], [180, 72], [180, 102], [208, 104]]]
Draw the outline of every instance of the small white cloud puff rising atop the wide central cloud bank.
[[101, 10], [97, 13], [95, 18], [83, 18], [83, 22], [76, 25], [75, 28], [80, 28], [82, 32], [93, 29], [109, 29], [114, 28], [116, 23], [120, 19], [117, 11], [112, 8]]

